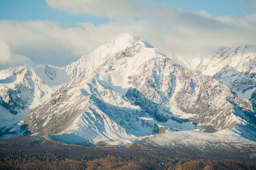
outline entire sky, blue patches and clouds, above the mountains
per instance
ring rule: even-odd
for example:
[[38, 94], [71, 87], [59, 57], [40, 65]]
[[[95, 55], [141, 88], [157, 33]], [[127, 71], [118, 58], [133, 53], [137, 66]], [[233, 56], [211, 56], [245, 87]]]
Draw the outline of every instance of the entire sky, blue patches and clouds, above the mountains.
[[65, 66], [126, 32], [165, 55], [256, 45], [256, 0], [0, 0], [0, 70]]

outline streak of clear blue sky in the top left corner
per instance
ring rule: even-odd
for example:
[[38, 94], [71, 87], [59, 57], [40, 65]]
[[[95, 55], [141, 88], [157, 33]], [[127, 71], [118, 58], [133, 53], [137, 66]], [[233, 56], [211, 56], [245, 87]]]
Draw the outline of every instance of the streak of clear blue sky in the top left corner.
[[93, 17], [86, 14], [72, 14], [53, 9], [45, 0], [0, 0], [0, 19], [7, 20], [50, 20], [77, 25], [79, 22], [94, 24], [107, 22], [107, 18]]

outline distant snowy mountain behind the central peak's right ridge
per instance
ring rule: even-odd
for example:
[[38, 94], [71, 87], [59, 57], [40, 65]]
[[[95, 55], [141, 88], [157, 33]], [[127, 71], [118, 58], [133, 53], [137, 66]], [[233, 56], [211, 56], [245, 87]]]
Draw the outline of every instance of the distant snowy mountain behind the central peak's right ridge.
[[178, 63], [202, 75], [211, 75], [233, 92], [250, 99], [256, 109], [256, 49], [243, 46], [235, 49], [222, 48], [209, 54], [195, 52], [172, 55]]

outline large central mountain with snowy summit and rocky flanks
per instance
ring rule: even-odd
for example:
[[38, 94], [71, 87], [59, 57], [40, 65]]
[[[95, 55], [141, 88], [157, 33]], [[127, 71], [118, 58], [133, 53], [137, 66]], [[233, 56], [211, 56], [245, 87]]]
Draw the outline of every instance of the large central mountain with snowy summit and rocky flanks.
[[129, 35], [119, 40], [64, 68], [74, 78], [31, 109], [25, 120], [29, 131], [75, 144], [136, 141], [195, 128], [231, 128], [255, 140], [248, 99], [208, 75], [175, 64], [145, 40]]

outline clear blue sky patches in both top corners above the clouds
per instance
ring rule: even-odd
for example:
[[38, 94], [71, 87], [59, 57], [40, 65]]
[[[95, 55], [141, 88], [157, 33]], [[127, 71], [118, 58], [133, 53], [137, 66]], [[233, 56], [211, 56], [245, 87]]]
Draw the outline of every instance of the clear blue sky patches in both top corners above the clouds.
[[[204, 10], [215, 16], [243, 17], [256, 12], [255, 8], [250, 8], [251, 4], [246, 0], [153, 0], [151, 2], [193, 12]], [[85, 13], [72, 14], [53, 9], [45, 0], [0, 0], [0, 19], [51, 20], [73, 25], [79, 22], [99, 24], [109, 20], [107, 17], [94, 17]]]

